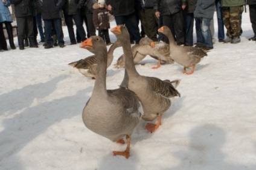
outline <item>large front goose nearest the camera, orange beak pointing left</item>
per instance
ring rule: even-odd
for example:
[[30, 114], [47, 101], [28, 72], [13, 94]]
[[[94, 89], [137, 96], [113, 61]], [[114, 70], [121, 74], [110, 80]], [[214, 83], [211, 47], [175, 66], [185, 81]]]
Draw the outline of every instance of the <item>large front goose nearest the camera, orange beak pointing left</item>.
[[142, 107], [138, 96], [124, 88], [106, 90], [107, 48], [104, 40], [92, 36], [80, 45], [97, 57], [97, 74], [91, 98], [86, 102], [82, 118], [85, 126], [113, 142], [124, 143], [125, 151], [113, 151], [114, 155], [130, 156], [130, 140], [135, 127], [142, 116]]

